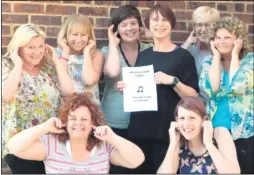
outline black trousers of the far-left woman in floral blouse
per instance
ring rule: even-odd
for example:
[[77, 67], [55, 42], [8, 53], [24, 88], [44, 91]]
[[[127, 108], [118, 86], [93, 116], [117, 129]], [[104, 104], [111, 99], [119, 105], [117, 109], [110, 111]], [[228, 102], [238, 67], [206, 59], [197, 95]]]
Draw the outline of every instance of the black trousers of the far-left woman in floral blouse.
[[7, 154], [4, 158], [11, 169], [12, 174], [46, 174], [42, 161], [25, 160]]

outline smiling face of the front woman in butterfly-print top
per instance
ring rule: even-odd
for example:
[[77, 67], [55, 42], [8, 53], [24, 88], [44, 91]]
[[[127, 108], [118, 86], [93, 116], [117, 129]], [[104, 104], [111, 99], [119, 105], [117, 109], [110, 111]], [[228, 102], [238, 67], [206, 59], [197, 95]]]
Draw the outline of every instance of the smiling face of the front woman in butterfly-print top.
[[203, 119], [197, 113], [180, 106], [178, 109], [177, 123], [181, 134], [186, 140], [201, 137]]

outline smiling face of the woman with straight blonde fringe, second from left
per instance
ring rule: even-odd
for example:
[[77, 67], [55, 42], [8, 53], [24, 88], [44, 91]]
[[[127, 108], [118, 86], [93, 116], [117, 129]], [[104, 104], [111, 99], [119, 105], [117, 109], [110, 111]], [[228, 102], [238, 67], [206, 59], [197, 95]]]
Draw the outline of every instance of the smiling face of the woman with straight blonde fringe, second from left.
[[72, 52], [80, 53], [87, 45], [89, 37], [83, 25], [73, 24], [67, 35], [67, 43]]

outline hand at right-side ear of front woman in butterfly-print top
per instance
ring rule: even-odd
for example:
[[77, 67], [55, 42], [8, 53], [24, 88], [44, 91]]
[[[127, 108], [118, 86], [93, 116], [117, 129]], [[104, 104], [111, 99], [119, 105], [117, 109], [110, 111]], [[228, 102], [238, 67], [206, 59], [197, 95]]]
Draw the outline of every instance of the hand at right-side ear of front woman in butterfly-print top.
[[210, 120], [203, 121], [203, 142], [205, 145], [213, 144], [213, 125]]

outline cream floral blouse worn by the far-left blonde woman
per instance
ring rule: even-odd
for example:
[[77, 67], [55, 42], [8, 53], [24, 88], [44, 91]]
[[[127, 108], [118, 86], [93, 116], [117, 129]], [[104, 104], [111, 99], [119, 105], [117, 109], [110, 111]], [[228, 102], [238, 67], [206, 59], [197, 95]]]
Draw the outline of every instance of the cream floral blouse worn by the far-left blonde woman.
[[[13, 66], [10, 59], [2, 59], [2, 89]], [[36, 77], [23, 71], [16, 94], [2, 103], [2, 157], [8, 154], [5, 145], [12, 136], [55, 117], [59, 104], [57, 74], [52, 65], [46, 63]]]

